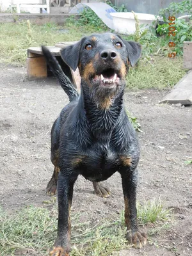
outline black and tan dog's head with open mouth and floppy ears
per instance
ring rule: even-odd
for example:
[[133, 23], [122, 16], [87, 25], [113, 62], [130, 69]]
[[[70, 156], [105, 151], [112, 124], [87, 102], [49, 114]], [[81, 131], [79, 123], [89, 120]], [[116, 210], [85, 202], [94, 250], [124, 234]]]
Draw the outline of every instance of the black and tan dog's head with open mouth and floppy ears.
[[83, 86], [89, 87], [95, 99], [114, 97], [125, 85], [129, 64], [134, 66], [140, 54], [140, 44], [113, 33], [93, 34], [61, 49], [65, 63], [73, 70], [79, 68]]

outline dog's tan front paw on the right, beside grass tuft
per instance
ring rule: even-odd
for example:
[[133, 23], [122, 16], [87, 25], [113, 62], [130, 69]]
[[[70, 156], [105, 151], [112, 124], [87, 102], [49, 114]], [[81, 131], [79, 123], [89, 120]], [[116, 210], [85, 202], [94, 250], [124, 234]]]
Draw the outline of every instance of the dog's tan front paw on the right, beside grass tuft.
[[129, 230], [127, 231], [126, 238], [129, 243], [134, 246], [134, 248], [140, 249], [141, 247], [145, 246], [145, 244], [147, 244], [147, 234], [144, 232], [140, 233], [139, 231], [136, 231], [132, 233], [132, 231]]

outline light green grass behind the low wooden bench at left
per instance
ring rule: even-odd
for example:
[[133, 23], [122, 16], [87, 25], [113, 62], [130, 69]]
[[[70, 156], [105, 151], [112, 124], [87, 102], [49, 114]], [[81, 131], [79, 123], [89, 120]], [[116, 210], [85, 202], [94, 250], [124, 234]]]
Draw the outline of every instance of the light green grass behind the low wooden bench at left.
[[65, 27], [47, 23], [37, 26], [27, 22], [0, 24], [0, 62], [24, 65], [29, 47], [55, 45], [58, 42], [76, 41], [94, 32], [91, 26], [77, 28], [68, 20]]

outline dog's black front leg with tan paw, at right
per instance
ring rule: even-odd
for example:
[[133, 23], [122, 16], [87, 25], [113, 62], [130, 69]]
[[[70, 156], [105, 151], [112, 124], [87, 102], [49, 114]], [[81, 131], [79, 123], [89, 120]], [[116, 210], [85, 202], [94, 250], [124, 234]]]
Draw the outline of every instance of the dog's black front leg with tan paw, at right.
[[124, 170], [121, 172], [122, 186], [125, 201], [125, 226], [127, 227], [127, 240], [135, 248], [141, 248], [147, 243], [147, 235], [138, 231], [136, 209], [137, 171]]

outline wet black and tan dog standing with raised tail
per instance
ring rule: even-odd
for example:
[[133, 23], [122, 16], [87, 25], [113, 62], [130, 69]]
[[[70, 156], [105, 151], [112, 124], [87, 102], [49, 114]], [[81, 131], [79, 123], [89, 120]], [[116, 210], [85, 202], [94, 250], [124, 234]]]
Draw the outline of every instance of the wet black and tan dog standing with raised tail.
[[54, 173], [47, 194], [58, 189], [58, 237], [51, 256], [70, 253], [70, 206], [74, 182], [79, 174], [93, 182], [95, 192], [108, 197], [99, 182], [119, 172], [125, 200], [127, 239], [136, 248], [147, 242], [138, 231], [136, 170], [140, 149], [136, 133], [124, 109], [125, 76], [141, 54], [136, 42], [112, 33], [84, 37], [61, 50], [61, 57], [73, 70], [79, 68], [81, 95], [63, 74], [56, 59], [42, 47], [47, 63], [67, 93], [70, 103], [63, 108], [51, 131], [51, 161]]

